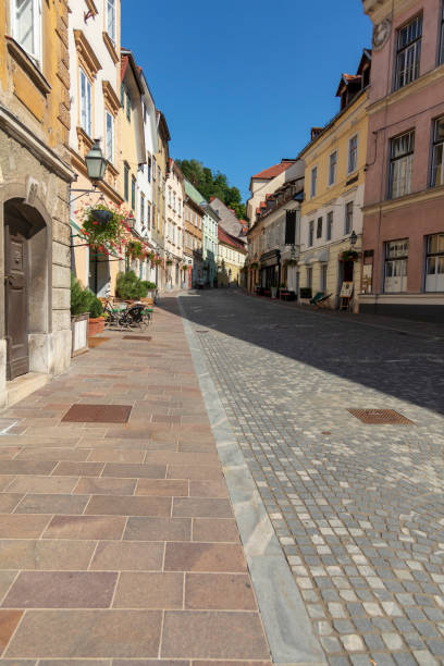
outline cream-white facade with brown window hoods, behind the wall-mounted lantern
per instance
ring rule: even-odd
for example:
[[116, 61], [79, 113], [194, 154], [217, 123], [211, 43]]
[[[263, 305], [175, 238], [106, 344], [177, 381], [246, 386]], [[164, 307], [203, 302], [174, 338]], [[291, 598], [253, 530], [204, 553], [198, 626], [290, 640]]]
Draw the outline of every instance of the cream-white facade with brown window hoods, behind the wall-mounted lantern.
[[101, 257], [97, 258], [77, 238], [83, 224], [85, 207], [101, 202], [119, 205], [118, 176], [120, 162], [120, 0], [85, 5], [70, 1], [69, 52], [71, 79], [71, 130], [69, 145], [72, 163], [77, 172], [75, 187], [91, 189], [87, 177], [85, 155], [92, 147], [94, 139], [100, 140], [103, 156], [108, 160], [103, 182], [97, 194], [85, 195], [71, 208], [73, 238], [77, 248], [73, 254], [73, 270], [76, 276], [100, 296], [110, 292], [116, 264]]

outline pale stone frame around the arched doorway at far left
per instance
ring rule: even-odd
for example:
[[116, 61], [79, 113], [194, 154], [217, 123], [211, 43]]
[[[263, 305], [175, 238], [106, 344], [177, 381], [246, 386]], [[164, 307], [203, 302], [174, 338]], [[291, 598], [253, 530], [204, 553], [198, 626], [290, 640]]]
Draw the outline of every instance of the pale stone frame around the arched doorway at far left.
[[[52, 218], [45, 205], [35, 197], [26, 201], [27, 188], [23, 182], [9, 182], [0, 186], [0, 406], [7, 403], [7, 340], [4, 317], [4, 209], [8, 201], [16, 200], [28, 209], [35, 221], [36, 233], [28, 239], [29, 248], [29, 371], [52, 374]], [[26, 209], [25, 209], [26, 210]]]

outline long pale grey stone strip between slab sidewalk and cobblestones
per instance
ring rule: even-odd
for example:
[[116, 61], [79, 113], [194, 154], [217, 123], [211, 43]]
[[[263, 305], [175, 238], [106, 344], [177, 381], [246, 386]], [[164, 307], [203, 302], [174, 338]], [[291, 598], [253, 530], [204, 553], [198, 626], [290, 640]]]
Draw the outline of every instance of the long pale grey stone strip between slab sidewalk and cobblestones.
[[[203, 403], [210, 418], [222, 469], [244, 545], [248, 569], [274, 664], [324, 666], [322, 648], [289, 570], [267, 509], [236, 441], [203, 350], [177, 298]], [[222, 425], [223, 422], [223, 425]], [[258, 546], [262, 535], [268, 541]], [[256, 547], [255, 547], [256, 546]]]

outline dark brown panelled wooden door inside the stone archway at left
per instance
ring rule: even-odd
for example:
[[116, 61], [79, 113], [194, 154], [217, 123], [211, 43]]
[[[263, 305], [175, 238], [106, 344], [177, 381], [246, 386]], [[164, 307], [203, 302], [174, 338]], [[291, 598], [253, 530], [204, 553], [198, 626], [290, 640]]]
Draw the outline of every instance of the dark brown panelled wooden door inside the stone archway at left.
[[20, 222], [4, 226], [7, 379], [29, 371], [27, 239]]

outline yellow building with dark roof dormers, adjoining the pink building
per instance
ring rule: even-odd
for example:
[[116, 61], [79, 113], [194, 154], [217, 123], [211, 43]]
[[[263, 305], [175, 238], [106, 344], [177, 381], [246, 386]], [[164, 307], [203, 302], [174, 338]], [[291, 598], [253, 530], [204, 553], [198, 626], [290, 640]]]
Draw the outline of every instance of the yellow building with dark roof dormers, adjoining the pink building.
[[[330, 295], [337, 308], [345, 289], [357, 310], [361, 283], [362, 206], [368, 141], [371, 53], [363, 51], [356, 75], [343, 74], [341, 111], [323, 128], [311, 131], [300, 152], [305, 161], [297, 285]], [[344, 285], [347, 283], [347, 285]], [[308, 292], [303, 293], [304, 296]]]

